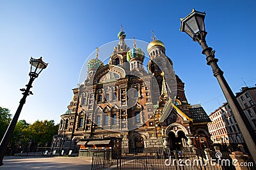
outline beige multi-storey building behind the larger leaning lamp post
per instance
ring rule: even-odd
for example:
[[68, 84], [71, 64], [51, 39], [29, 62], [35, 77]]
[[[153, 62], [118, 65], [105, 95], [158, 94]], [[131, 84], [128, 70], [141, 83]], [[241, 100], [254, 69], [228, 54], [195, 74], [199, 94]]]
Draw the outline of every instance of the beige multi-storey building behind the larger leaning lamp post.
[[[256, 87], [242, 87], [236, 93], [236, 99], [244, 111], [254, 131], [256, 131]], [[236, 118], [228, 103], [224, 103], [209, 116], [212, 122], [208, 124], [211, 139], [214, 143], [244, 143], [243, 135], [237, 125]]]

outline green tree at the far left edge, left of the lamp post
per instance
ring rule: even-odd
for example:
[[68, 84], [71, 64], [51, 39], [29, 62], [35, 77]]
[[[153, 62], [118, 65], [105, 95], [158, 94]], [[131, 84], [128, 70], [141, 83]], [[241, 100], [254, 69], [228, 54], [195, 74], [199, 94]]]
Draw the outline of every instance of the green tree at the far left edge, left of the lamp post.
[[10, 124], [12, 120], [12, 115], [10, 114], [10, 110], [7, 108], [0, 107], [0, 139], [3, 139], [4, 133], [6, 132], [6, 129], [8, 128], [8, 125]]

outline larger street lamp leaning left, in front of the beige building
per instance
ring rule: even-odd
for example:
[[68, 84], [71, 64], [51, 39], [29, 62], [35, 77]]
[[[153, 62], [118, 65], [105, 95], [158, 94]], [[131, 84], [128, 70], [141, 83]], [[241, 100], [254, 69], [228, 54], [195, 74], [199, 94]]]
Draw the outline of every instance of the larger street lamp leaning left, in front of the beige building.
[[226, 97], [227, 102], [234, 113], [237, 125], [239, 125], [241, 133], [244, 136], [244, 141], [246, 142], [246, 145], [254, 161], [256, 162], [255, 131], [253, 131], [252, 125], [250, 124], [246, 116], [244, 116], [241, 106], [237, 102], [236, 97], [234, 96], [227, 81], [225, 80], [223, 76], [223, 71], [221, 71], [220, 67], [217, 64], [218, 59], [214, 58], [215, 50], [212, 50], [211, 47], [207, 46], [207, 43], [205, 41], [205, 36], [207, 32], [205, 32], [204, 18], [205, 13], [193, 9], [187, 17], [180, 18], [180, 31], [186, 32], [191, 38], [193, 38], [193, 41], [198, 42], [200, 46], [202, 46], [202, 53], [206, 55], [207, 65], [212, 67], [213, 75], [217, 78], [220, 84], [221, 90], [223, 91], [223, 94]]

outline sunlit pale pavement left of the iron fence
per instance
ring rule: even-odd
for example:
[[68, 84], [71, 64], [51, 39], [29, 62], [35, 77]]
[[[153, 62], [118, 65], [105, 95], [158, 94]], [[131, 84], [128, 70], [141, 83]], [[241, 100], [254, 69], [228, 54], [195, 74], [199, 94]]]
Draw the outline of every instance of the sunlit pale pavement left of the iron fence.
[[92, 157], [4, 157], [2, 169], [90, 170]]

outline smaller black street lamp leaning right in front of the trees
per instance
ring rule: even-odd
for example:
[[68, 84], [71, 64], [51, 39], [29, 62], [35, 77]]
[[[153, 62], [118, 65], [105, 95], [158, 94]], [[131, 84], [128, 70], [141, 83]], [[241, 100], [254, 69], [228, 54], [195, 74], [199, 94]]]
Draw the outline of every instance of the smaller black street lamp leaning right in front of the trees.
[[29, 96], [29, 94], [33, 95], [33, 93], [30, 91], [30, 88], [32, 87], [32, 83], [35, 80], [35, 78], [38, 77], [38, 75], [42, 72], [43, 69], [45, 69], [48, 65], [48, 63], [43, 62], [42, 57], [40, 59], [33, 59], [31, 57], [29, 64], [31, 64], [30, 72], [29, 72], [29, 82], [28, 85], [26, 85], [26, 89], [20, 89], [23, 93], [22, 99], [20, 99], [19, 107], [17, 108], [17, 111], [12, 119], [12, 122], [8, 126], [8, 129], [6, 130], [4, 134], [4, 138], [1, 141], [0, 145], [0, 166], [3, 166], [3, 158], [4, 153], [6, 152], [6, 148], [8, 146], [8, 143], [10, 142], [10, 138], [12, 137], [15, 125], [17, 124], [20, 111], [22, 110], [23, 105], [26, 103], [26, 97]]

